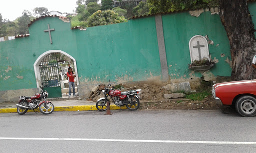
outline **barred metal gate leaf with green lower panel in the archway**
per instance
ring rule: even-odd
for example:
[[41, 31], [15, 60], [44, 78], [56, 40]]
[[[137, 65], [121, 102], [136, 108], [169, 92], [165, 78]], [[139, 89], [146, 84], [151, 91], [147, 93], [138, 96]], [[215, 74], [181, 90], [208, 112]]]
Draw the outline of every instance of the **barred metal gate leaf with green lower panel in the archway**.
[[51, 53], [44, 57], [39, 64], [39, 71], [43, 89], [49, 93], [48, 97], [61, 97], [57, 54]]

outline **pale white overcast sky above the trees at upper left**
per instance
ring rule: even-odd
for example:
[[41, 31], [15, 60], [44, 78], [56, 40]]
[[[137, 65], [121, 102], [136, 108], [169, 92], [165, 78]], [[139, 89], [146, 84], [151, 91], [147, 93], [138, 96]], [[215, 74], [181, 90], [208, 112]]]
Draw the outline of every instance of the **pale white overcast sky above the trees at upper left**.
[[76, 0], [1, 0], [0, 13], [2, 18], [13, 21], [22, 15], [23, 9], [29, 10], [35, 7], [46, 7], [48, 11], [57, 10], [60, 12], [73, 13]]

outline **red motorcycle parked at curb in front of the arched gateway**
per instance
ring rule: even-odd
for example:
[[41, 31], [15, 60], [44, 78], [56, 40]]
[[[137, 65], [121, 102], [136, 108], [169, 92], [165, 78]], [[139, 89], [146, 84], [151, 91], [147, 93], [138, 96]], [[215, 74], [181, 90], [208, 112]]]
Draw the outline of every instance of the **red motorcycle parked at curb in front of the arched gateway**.
[[[40, 93], [34, 94], [31, 97], [19, 96], [19, 101], [17, 106], [17, 113], [23, 115], [27, 110], [33, 110], [39, 107], [39, 111], [42, 114], [50, 114], [54, 110], [54, 105], [50, 101], [46, 101], [48, 97], [47, 91], [43, 91], [43, 88], [40, 86]], [[40, 102], [41, 100], [44, 100]], [[35, 111], [34, 111], [35, 112]], [[36, 113], [36, 112], [35, 112]]]

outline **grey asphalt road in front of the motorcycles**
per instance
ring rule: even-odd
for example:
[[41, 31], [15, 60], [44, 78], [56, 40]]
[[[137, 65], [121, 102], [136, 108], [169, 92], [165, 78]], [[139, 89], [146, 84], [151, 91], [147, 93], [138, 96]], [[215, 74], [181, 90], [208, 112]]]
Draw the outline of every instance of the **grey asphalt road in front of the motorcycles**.
[[0, 153], [255, 153], [256, 117], [232, 110], [0, 114]]

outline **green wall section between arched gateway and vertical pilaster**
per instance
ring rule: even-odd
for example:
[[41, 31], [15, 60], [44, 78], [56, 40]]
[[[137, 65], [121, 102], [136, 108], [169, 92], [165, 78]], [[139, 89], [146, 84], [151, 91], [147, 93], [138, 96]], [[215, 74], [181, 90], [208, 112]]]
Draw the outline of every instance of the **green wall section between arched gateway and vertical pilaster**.
[[154, 17], [74, 30], [79, 83], [141, 81], [160, 76]]

